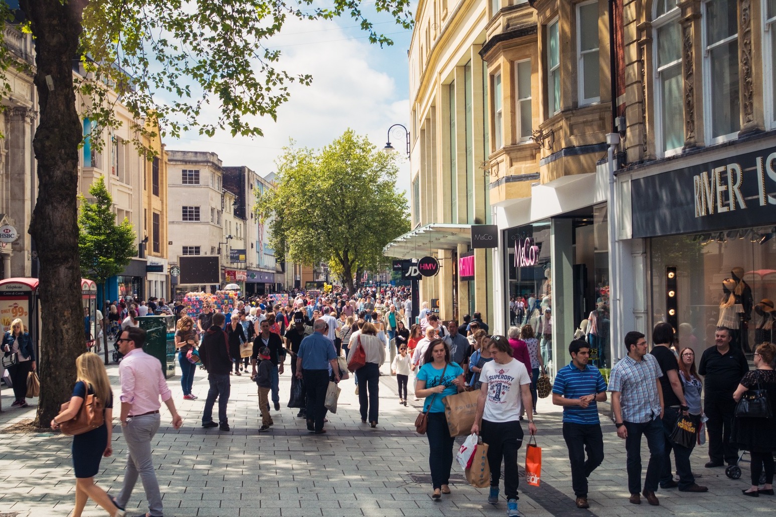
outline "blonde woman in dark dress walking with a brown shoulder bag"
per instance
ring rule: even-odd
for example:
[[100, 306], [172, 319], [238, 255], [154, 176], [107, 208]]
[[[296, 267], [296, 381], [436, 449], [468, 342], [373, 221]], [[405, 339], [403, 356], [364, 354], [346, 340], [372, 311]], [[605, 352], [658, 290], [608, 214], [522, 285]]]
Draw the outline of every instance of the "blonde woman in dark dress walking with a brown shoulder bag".
[[51, 429], [59, 429], [61, 422], [67, 422], [78, 414], [86, 395], [96, 395], [104, 405], [105, 422], [88, 433], [73, 436], [73, 470], [75, 473], [75, 507], [73, 517], [81, 517], [88, 498], [102, 506], [111, 517], [126, 515], [113, 499], [95, 484], [95, 474], [99, 472], [102, 457], [113, 454], [111, 436], [113, 435], [113, 391], [110, 388], [108, 373], [102, 365], [102, 359], [93, 352], [81, 353], [75, 360], [76, 381], [68, 408], [51, 420]]

